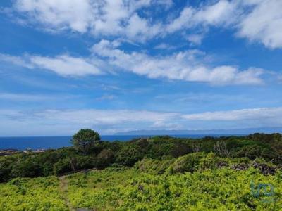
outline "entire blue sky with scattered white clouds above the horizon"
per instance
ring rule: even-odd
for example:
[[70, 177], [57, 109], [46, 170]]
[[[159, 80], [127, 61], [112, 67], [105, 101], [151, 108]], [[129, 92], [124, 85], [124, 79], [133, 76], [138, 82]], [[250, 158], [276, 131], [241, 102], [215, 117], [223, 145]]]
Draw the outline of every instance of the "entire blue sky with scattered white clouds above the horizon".
[[281, 0], [2, 0], [0, 136], [282, 127]]

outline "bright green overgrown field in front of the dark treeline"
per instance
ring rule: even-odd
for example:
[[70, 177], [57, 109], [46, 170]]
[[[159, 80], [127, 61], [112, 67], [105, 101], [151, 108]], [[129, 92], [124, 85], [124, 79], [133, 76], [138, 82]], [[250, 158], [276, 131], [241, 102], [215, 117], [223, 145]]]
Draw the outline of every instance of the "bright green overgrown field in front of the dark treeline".
[[282, 210], [281, 200], [280, 167], [214, 153], [0, 184], [0, 210]]

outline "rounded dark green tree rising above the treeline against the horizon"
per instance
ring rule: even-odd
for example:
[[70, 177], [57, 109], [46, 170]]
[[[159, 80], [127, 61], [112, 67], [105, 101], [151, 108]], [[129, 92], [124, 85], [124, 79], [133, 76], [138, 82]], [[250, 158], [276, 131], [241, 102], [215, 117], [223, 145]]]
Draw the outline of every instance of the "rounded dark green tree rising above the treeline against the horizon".
[[99, 140], [100, 135], [92, 129], [80, 129], [73, 135], [72, 143], [82, 153], [87, 153]]

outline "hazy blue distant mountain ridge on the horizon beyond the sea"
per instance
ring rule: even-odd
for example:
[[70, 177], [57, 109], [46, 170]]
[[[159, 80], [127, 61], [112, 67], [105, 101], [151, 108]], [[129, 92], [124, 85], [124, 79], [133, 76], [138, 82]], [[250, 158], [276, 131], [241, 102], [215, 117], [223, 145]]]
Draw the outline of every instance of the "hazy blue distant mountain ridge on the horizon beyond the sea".
[[282, 127], [259, 127], [243, 129], [207, 129], [207, 130], [135, 130], [129, 132], [118, 132], [114, 135], [243, 135], [254, 133], [282, 133]]

